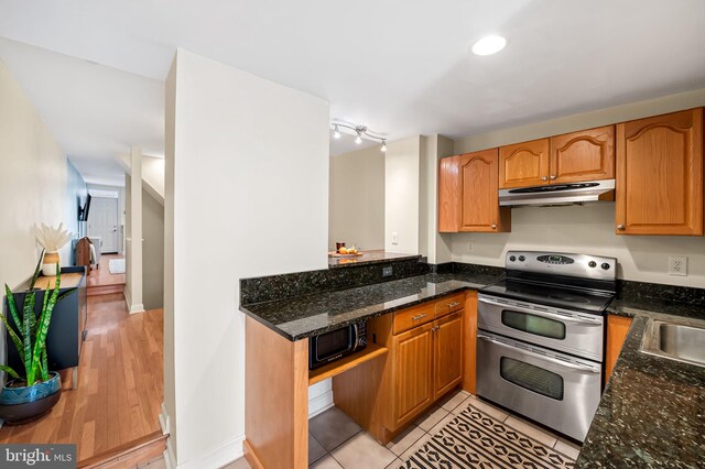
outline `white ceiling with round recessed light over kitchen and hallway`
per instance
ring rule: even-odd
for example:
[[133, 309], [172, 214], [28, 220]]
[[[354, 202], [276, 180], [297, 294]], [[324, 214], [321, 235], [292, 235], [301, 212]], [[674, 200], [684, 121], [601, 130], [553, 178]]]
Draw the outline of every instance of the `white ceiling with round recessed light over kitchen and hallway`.
[[[457, 138], [705, 87], [704, 25], [703, 0], [0, 0], [0, 36], [107, 67], [7, 42], [0, 57], [88, 161], [130, 143], [163, 151], [160, 81], [176, 46], [321, 96], [332, 119], [390, 140]], [[507, 48], [469, 54], [488, 33]]]

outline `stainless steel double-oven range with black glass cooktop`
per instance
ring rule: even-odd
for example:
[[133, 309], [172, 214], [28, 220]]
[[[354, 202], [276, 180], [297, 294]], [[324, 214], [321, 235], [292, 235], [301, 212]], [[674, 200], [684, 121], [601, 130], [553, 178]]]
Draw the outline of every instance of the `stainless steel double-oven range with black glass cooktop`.
[[478, 295], [477, 394], [583, 441], [601, 393], [617, 260], [509, 251]]

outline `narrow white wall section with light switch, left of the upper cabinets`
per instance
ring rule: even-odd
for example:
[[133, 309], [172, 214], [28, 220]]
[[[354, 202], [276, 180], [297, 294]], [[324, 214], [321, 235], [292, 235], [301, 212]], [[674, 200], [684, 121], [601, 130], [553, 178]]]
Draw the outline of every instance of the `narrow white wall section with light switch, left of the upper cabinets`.
[[[420, 168], [422, 137], [387, 144], [384, 159], [384, 249], [419, 253]], [[425, 151], [425, 142], [423, 146]], [[397, 233], [398, 243], [393, 243]]]

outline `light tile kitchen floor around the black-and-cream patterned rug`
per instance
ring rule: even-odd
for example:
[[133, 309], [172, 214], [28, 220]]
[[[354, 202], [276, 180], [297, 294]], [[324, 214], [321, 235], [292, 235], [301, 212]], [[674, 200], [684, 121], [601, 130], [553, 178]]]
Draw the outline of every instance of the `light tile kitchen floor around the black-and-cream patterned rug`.
[[[468, 405], [477, 407], [556, 451], [577, 458], [579, 447], [575, 444], [514, 415], [509, 415], [465, 391], [456, 391], [426, 411], [387, 447], [377, 443], [337, 407], [316, 415], [308, 422], [310, 467], [315, 469], [398, 468]], [[226, 466], [225, 469], [249, 467], [242, 458]]]

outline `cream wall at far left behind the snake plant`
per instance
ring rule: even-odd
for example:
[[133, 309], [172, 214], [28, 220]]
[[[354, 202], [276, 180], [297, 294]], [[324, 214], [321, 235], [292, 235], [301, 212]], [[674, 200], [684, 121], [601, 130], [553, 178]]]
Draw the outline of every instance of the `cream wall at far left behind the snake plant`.
[[[0, 61], [0, 285], [32, 275], [41, 252], [35, 225], [66, 226], [66, 156]], [[70, 243], [59, 254], [67, 265]]]

